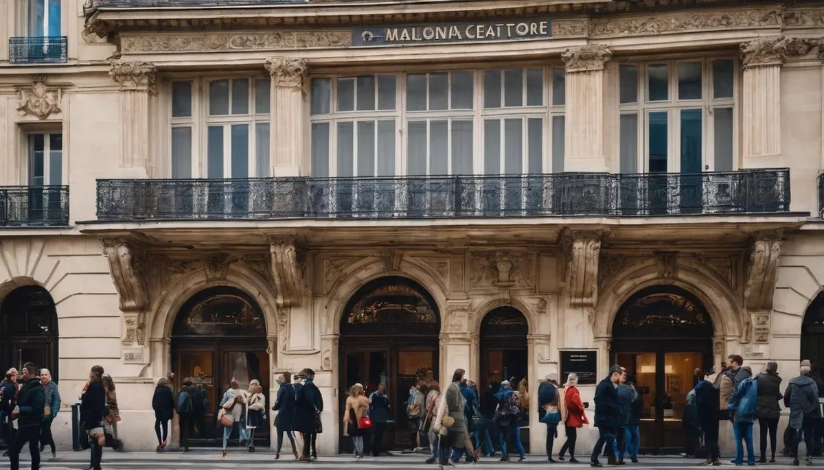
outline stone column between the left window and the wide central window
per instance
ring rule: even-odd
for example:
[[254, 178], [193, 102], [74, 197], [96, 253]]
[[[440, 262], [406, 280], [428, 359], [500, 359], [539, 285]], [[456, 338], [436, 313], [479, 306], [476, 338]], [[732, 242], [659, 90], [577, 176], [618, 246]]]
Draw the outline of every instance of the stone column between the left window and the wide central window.
[[307, 76], [305, 58], [266, 59], [272, 76], [269, 161], [273, 176], [300, 176], [306, 170]]

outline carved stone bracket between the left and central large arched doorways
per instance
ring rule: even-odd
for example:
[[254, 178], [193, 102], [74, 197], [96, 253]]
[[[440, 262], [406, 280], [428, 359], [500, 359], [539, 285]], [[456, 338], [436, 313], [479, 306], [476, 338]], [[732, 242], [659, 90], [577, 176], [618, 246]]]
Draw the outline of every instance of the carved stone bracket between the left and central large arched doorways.
[[269, 254], [278, 306], [301, 306], [305, 291], [303, 266], [293, 238], [269, 239]]

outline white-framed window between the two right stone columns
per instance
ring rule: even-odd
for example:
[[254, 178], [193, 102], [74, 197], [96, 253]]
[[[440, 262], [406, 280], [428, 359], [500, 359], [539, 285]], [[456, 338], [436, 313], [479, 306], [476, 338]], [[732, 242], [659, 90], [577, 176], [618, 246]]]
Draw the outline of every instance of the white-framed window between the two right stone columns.
[[621, 63], [620, 173], [733, 170], [732, 58]]

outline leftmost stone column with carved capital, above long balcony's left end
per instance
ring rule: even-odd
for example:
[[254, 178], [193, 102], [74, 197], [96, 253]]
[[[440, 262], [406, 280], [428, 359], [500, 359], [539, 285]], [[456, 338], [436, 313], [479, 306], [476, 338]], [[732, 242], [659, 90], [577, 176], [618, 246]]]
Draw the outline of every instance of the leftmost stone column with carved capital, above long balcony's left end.
[[149, 100], [157, 95], [157, 67], [147, 62], [118, 60], [110, 77], [120, 84], [120, 166], [133, 177], [149, 177]]

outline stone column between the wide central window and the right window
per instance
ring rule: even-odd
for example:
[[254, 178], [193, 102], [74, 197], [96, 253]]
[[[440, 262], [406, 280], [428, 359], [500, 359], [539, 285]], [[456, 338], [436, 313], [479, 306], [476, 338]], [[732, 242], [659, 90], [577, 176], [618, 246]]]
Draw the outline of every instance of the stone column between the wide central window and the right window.
[[564, 171], [607, 171], [604, 152], [604, 64], [606, 45], [567, 49]]

